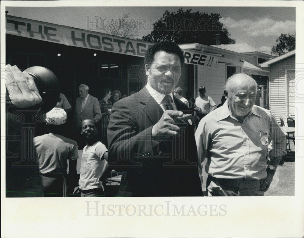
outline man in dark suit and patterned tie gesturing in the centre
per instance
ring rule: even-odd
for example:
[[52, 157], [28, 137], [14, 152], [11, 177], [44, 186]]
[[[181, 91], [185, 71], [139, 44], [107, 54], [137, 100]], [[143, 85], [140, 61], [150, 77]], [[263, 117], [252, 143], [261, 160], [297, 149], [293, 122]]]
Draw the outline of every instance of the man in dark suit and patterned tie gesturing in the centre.
[[172, 95], [183, 64], [177, 44], [154, 44], [147, 85], [112, 107], [109, 166], [124, 171], [118, 196], [202, 196], [191, 111]]

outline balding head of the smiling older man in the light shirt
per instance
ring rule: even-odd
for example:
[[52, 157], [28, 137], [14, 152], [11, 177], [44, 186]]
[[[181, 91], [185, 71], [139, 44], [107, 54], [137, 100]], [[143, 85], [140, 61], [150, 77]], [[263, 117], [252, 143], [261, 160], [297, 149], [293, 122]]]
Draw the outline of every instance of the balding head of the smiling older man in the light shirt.
[[257, 82], [247, 74], [234, 74], [227, 79], [224, 93], [232, 115], [243, 122], [254, 105]]

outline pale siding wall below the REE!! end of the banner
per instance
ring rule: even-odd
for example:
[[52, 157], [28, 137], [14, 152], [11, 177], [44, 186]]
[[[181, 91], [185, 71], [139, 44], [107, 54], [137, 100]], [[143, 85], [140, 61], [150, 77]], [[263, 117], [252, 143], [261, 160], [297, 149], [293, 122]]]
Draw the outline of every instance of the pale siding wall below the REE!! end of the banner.
[[[200, 67], [197, 69], [197, 88], [206, 87], [206, 95], [211, 97], [218, 105], [224, 95], [226, 83], [226, 64], [218, 64], [217, 68]], [[195, 92], [195, 98], [199, 97], [199, 92]]]

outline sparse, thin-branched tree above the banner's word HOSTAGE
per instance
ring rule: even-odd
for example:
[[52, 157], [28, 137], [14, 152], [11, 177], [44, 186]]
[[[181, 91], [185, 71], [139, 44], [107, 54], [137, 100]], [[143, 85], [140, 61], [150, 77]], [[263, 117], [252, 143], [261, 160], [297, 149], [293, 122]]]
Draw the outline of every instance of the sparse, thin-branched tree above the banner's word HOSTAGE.
[[[121, 36], [130, 39], [135, 39], [139, 36], [138, 22], [133, 19], [128, 19], [130, 12], [119, 16], [118, 19], [109, 19], [98, 17], [95, 22], [95, 30], [113, 36]], [[91, 24], [94, 24], [91, 22]]]

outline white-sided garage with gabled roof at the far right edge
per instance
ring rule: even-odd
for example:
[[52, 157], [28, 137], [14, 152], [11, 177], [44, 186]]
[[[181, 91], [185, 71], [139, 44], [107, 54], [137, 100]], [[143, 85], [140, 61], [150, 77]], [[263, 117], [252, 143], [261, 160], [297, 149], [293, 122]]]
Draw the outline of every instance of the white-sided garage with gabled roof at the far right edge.
[[269, 71], [269, 102], [272, 114], [280, 121], [297, 113], [295, 107], [295, 50], [260, 64]]

